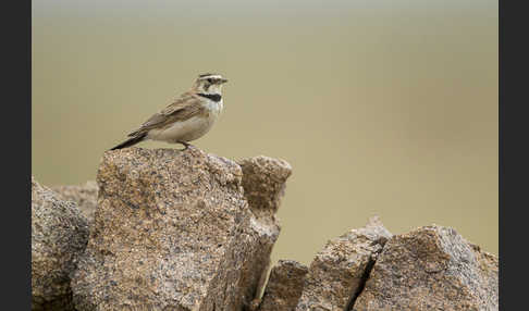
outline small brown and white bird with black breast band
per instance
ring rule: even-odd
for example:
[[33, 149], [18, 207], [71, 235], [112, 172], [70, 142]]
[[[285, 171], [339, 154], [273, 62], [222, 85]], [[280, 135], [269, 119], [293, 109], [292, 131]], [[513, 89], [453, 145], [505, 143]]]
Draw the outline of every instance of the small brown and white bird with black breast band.
[[226, 82], [219, 74], [199, 75], [190, 90], [155, 113], [138, 129], [128, 134], [131, 138], [110, 150], [131, 147], [147, 139], [182, 144], [187, 149], [190, 146], [188, 141], [208, 133], [221, 113], [221, 90]]

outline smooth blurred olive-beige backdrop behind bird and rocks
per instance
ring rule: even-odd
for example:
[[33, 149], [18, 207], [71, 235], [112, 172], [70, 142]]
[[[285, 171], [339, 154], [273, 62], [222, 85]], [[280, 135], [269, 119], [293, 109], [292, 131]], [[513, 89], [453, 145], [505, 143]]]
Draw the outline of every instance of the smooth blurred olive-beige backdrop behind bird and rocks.
[[[47, 186], [219, 72], [198, 148], [290, 162], [272, 261], [379, 215], [497, 254], [497, 1], [33, 1], [33, 158]], [[181, 148], [143, 142], [144, 148]]]

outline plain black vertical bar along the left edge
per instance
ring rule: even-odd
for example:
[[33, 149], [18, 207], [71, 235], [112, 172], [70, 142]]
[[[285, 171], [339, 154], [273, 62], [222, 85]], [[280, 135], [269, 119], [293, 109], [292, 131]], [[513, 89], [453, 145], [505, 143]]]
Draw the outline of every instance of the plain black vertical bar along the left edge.
[[[32, 303], [32, 1], [2, 5], [3, 237], [2, 309]], [[11, 307], [11, 308], [10, 308]]]

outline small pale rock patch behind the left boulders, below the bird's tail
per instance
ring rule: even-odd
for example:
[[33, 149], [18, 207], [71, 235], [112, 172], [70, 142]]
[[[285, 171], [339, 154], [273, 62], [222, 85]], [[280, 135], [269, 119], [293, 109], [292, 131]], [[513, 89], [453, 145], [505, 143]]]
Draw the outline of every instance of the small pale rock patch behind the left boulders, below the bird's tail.
[[56, 191], [62, 200], [76, 202], [81, 212], [91, 225], [94, 213], [97, 208], [98, 187], [96, 181], [88, 181], [79, 186], [52, 186], [50, 188]]

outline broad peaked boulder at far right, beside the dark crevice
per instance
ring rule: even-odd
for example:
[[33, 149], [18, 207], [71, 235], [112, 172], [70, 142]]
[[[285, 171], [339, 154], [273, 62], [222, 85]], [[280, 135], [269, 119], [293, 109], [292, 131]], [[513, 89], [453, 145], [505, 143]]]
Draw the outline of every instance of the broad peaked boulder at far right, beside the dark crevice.
[[497, 266], [454, 229], [420, 227], [385, 244], [354, 309], [499, 310]]

